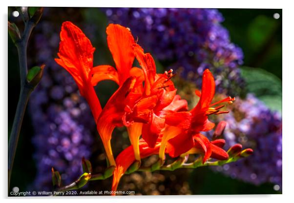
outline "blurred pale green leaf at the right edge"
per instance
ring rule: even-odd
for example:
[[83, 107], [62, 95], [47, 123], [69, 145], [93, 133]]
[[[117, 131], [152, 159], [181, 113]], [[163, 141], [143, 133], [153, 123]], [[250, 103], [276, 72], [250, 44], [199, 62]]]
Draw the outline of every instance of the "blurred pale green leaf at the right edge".
[[264, 102], [270, 109], [282, 111], [282, 81], [272, 73], [251, 67], [241, 67], [241, 74], [247, 83], [249, 93]]

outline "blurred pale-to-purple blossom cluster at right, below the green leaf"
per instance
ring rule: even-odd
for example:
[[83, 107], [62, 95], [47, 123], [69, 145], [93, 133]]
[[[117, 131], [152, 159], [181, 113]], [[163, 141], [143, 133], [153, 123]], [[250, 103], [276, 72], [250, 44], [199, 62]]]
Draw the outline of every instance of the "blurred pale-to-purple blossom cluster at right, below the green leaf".
[[274, 183], [282, 188], [282, 118], [265, 104], [248, 94], [245, 100], [236, 100], [224, 131], [227, 146], [241, 143], [254, 150], [252, 156], [220, 166], [218, 169], [245, 182]]

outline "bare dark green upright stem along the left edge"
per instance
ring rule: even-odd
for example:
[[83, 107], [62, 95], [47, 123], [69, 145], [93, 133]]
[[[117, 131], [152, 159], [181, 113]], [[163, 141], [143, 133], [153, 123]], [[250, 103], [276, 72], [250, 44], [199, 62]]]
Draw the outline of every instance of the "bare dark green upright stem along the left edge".
[[21, 41], [16, 41], [15, 45], [18, 50], [19, 63], [20, 63], [20, 76], [21, 76], [21, 92], [19, 97], [19, 102], [17, 105], [15, 117], [12, 124], [12, 129], [10, 133], [10, 138], [8, 142], [8, 190], [10, 187], [10, 179], [12, 173], [13, 162], [15, 158], [15, 153], [19, 141], [19, 135], [21, 131], [21, 124], [26, 109], [27, 102], [29, 100], [30, 94], [34, 89], [34, 86], [29, 85], [26, 81], [27, 75], [27, 42], [30, 34], [35, 27], [33, 22], [27, 21], [25, 23], [25, 29], [21, 37]]

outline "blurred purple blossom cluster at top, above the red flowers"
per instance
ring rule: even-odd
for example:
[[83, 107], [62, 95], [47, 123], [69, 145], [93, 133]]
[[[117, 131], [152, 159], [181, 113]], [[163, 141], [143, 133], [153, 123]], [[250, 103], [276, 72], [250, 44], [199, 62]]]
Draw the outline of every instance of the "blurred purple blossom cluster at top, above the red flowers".
[[[216, 9], [104, 8], [109, 22], [129, 27], [144, 49], [156, 59], [201, 87], [203, 70], [216, 75], [219, 93], [237, 95], [244, 81], [238, 65], [241, 48], [231, 43]], [[169, 68], [170, 68], [169, 67]]]

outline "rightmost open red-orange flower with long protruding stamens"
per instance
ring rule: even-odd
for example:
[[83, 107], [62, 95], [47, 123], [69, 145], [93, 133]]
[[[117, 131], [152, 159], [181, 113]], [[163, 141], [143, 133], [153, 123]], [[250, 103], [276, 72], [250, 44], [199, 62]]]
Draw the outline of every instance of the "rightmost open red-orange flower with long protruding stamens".
[[214, 92], [215, 83], [213, 76], [206, 69], [202, 78], [202, 92], [196, 91], [196, 94], [200, 97], [197, 105], [190, 111], [172, 112], [165, 117], [167, 125], [163, 131], [162, 144], [159, 152], [161, 159], [164, 159], [166, 149], [169, 156], [177, 157], [191, 149], [195, 145], [195, 142], [198, 142], [205, 151], [203, 162], [210, 158], [210, 142], [200, 132], [210, 131], [214, 127], [214, 123], [208, 120], [209, 115], [228, 113], [228, 111], [219, 110], [224, 105], [213, 106], [223, 102], [232, 103], [235, 100], [234, 98], [228, 97], [211, 104]]

